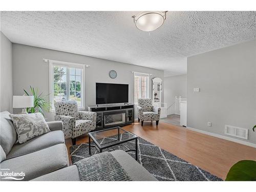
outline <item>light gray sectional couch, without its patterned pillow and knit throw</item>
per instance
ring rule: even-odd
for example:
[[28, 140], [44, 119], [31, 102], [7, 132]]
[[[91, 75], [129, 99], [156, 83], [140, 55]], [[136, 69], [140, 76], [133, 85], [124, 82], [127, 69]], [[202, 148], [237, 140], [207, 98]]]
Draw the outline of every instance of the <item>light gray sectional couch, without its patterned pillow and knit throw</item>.
[[[0, 168], [8, 172], [25, 173], [23, 181], [79, 181], [76, 165], [69, 166], [62, 122], [47, 122], [51, 132], [19, 144], [9, 112], [1, 112]], [[156, 181], [144, 167], [129, 154], [111, 152], [134, 181]], [[0, 177], [4, 181], [4, 177]]]

